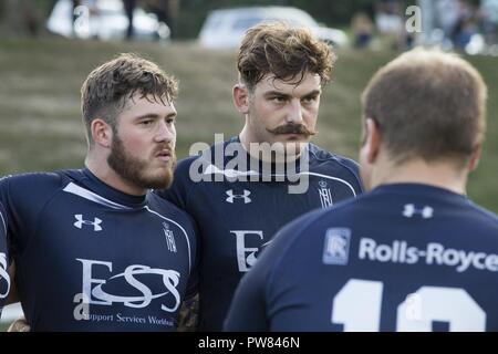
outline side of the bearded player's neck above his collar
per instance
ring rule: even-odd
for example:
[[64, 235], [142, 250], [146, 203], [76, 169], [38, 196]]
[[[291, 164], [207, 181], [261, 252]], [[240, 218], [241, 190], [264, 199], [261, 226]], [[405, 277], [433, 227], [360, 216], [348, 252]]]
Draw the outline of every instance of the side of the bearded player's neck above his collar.
[[106, 160], [98, 160], [97, 158], [87, 156], [85, 159], [85, 166], [93, 175], [95, 175], [95, 177], [97, 177], [104, 184], [124, 194], [131, 196], [144, 196], [147, 192], [147, 189], [135, 186], [124, 180], [114, 171], [114, 169], [108, 166]]

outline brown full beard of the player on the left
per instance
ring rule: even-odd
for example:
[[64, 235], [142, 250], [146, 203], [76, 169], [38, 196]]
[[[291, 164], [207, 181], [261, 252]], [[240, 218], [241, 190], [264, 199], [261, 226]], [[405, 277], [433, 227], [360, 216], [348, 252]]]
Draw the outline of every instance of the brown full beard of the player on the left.
[[[167, 146], [169, 147], [169, 146]], [[165, 148], [159, 145], [155, 153]], [[144, 189], [165, 189], [173, 183], [173, 171], [176, 167], [175, 150], [170, 149], [170, 163], [166, 168], [157, 168], [157, 171], [149, 171], [152, 162], [147, 159], [136, 158], [126, 152], [123, 140], [117, 134], [114, 135], [111, 145], [111, 154], [107, 157], [107, 164], [123, 180]], [[154, 158], [154, 157], [153, 157]]]

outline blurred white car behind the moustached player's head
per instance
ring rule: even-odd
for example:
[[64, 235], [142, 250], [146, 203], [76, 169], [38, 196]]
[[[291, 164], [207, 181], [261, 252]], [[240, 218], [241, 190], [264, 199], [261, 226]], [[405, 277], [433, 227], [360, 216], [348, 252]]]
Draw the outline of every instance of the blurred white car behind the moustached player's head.
[[245, 32], [260, 22], [284, 21], [292, 27], [309, 28], [320, 40], [334, 46], [349, 43], [344, 31], [322, 27], [308, 13], [290, 7], [252, 7], [212, 10], [199, 33], [200, 44], [212, 49], [237, 48]]

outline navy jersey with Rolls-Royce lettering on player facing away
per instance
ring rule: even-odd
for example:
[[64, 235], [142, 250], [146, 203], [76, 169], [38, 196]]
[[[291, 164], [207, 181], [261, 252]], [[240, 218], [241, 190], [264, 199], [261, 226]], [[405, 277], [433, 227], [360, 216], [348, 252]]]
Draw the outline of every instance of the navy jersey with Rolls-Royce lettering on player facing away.
[[237, 289], [227, 331], [498, 331], [498, 217], [418, 184], [288, 225]]

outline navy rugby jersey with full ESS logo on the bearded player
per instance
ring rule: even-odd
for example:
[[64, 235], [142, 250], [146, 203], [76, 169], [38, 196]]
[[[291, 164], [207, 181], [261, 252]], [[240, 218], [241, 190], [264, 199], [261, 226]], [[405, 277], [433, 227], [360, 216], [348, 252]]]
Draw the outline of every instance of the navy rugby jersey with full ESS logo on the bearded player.
[[174, 331], [197, 291], [194, 223], [154, 194], [87, 169], [0, 180], [9, 249], [33, 331]]

